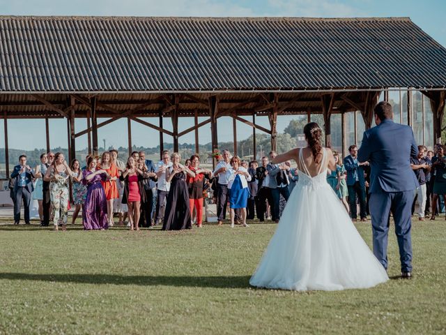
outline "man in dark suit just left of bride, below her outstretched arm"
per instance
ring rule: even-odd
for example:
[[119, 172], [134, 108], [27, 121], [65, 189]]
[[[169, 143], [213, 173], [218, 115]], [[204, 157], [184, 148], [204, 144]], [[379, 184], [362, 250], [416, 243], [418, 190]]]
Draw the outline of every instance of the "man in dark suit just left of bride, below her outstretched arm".
[[[274, 159], [276, 156], [276, 151], [270, 151], [270, 160]], [[269, 163], [266, 170], [268, 170], [268, 174], [270, 175], [270, 184], [268, 187], [271, 189], [272, 195], [272, 203], [270, 203], [272, 209], [272, 221], [278, 223], [280, 218], [280, 195], [284, 197], [285, 202], [288, 201], [290, 196], [288, 189], [288, 174], [290, 168], [285, 163]]]

